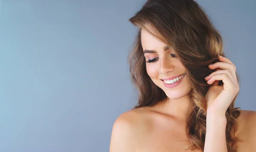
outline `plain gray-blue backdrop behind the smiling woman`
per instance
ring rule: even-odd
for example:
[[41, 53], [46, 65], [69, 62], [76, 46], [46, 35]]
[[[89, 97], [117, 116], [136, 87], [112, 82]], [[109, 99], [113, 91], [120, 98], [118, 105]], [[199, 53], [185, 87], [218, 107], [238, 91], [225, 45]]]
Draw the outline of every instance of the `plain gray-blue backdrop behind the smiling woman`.
[[[128, 22], [146, 0], [0, 0], [0, 152], [108, 152], [136, 103]], [[256, 110], [256, 1], [198, 0]]]

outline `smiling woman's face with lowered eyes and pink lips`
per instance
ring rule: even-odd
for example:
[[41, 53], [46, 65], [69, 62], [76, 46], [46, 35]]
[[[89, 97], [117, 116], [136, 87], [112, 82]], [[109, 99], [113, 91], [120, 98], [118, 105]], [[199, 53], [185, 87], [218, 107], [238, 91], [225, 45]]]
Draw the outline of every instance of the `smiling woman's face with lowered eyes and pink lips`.
[[[185, 73], [185, 67], [175, 56], [175, 52], [172, 51], [172, 48], [166, 48], [166, 44], [155, 39], [145, 30], [141, 31], [141, 43], [146, 59], [146, 70], [154, 84], [160, 87], [169, 99], [180, 99], [188, 95], [191, 91], [189, 81], [186, 75], [183, 77], [180, 76]], [[150, 51], [146, 51], [148, 52], [146, 53], [145, 50]], [[152, 62], [149, 63], [149, 59], [152, 60]], [[172, 78], [174, 83], [165, 85], [163, 79], [172, 76], [181, 79], [177, 81], [177, 79], [174, 80], [174, 78]], [[169, 83], [172, 83], [172, 81]]]

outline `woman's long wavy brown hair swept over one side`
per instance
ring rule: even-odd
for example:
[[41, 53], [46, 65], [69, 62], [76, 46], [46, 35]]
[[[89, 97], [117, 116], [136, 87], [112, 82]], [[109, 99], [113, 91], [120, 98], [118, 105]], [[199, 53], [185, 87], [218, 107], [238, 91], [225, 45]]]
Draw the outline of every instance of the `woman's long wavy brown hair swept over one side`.
[[[153, 106], [167, 97], [147, 74], [141, 45], [143, 29], [173, 48], [186, 69], [186, 76], [192, 90], [191, 104], [186, 115], [186, 133], [190, 143], [185, 149], [203, 150], [207, 111], [205, 95], [211, 86], [207, 84], [204, 77], [215, 71], [209, 69], [208, 65], [218, 62], [218, 55], [225, 56], [221, 35], [204, 9], [194, 0], [148, 0], [129, 20], [138, 27], [128, 59], [131, 81], [139, 90], [138, 104], [133, 109]], [[236, 76], [239, 82], [237, 73]], [[220, 81], [220, 84], [223, 82]], [[240, 141], [235, 137], [238, 127], [236, 118], [241, 110], [239, 107], [234, 108], [236, 97], [226, 111], [228, 152], [236, 152], [237, 142]]]

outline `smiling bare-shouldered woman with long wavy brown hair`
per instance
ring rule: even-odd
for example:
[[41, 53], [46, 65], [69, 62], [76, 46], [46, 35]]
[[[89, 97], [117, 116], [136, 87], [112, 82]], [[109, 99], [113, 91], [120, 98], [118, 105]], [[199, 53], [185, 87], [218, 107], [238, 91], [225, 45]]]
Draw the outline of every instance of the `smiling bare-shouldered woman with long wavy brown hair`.
[[110, 152], [256, 152], [256, 112], [234, 108], [236, 66], [203, 8], [148, 0], [130, 21], [140, 96], [113, 124]]

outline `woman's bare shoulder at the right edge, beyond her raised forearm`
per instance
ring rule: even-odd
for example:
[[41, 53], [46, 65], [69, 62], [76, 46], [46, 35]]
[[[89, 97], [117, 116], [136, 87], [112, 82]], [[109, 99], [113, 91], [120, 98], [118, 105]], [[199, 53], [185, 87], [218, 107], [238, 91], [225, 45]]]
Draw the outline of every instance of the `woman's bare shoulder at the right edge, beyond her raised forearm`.
[[237, 136], [242, 140], [238, 150], [256, 152], [256, 111], [241, 110], [237, 123]]

